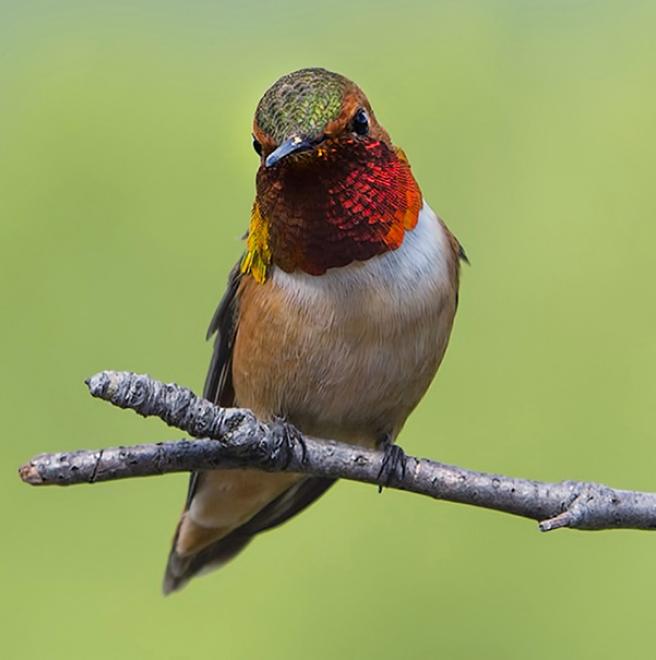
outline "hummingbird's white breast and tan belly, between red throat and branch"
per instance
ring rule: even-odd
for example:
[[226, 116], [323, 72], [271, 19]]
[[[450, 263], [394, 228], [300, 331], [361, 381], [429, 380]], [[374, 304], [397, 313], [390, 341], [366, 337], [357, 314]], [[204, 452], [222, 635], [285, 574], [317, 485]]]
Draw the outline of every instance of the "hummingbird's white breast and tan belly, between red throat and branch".
[[456, 306], [444, 230], [422, 214], [393, 253], [318, 277], [276, 270], [263, 285], [246, 281], [240, 406], [348, 442], [396, 435], [439, 366]]

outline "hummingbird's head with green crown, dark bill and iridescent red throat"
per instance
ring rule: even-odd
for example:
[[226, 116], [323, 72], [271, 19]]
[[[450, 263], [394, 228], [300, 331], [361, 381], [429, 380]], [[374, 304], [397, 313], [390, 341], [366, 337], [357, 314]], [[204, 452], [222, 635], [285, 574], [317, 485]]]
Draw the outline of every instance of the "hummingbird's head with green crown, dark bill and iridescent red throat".
[[255, 112], [257, 197], [242, 269], [321, 275], [401, 245], [422, 197], [362, 90], [325, 69], [283, 76]]

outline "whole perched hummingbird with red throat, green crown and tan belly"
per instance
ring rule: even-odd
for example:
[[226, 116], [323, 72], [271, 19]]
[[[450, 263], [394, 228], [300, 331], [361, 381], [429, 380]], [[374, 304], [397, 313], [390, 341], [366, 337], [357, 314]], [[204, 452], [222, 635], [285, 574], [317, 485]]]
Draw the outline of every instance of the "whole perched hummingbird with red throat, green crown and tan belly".
[[[383, 451], [437, 372], [458, 306], [460, 243], [362, 90], [307, 68], [258, 103], [259, 157], [244, 253], [211, 320], [204, 387], [219, 406]], [[219, 567], [333, 479], [252, 469], [191, 475], [164, 592]]]

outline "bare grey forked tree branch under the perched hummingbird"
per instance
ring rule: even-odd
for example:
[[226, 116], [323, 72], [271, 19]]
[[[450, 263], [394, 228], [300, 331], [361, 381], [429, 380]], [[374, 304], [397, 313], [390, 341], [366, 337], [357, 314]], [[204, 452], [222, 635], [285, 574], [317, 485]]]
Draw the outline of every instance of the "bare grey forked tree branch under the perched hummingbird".
[[[195, 440], [40, 454], [19, 469], [32, 485], [95, 483], [215, 468], [255, 468], [377, 484], [383, 454], [321, 440], [282, 420], [218, 408], [191, 390], [149, 376], [103, 371], [87, 381], [92, 396], [156, 416]], [[496, 509], [540, 521], [540, 529], [656, 529], [656, 493], [581, 481], [546, 483], [475, 472], [407, 457], [388, 486], [435, 499]]]

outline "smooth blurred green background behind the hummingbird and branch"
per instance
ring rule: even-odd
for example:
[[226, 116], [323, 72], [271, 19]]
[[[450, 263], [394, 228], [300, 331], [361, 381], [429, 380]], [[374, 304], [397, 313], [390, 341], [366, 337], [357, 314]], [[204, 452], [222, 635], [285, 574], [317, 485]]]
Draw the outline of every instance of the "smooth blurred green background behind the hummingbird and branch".
[[171, 439], [103, 369], [200, 389], [255, 104], [368, 93], [467, 248], [409, 451], [656, 489], [653, 2], [0, 4], [0, 651], [7, 658], [653, 657], [656, 537], [343, 483], [164, 599], [184, 475], [33, 489], [42, 451]]

